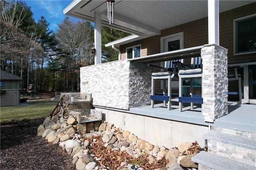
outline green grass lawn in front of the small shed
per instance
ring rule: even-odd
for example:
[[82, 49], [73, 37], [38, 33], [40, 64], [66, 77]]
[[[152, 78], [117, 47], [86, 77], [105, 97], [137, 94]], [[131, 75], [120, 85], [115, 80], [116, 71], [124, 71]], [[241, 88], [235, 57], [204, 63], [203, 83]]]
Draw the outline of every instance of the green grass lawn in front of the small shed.
[[58, 101], [33, 101], [28, 105], [0, 107], [0, 122], [46, 117]]

